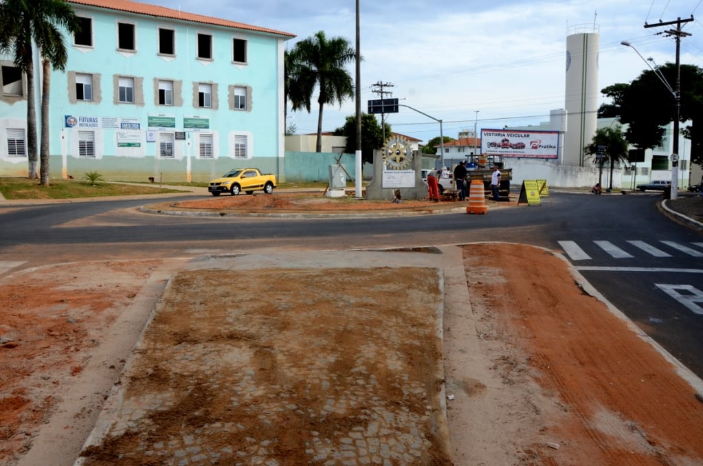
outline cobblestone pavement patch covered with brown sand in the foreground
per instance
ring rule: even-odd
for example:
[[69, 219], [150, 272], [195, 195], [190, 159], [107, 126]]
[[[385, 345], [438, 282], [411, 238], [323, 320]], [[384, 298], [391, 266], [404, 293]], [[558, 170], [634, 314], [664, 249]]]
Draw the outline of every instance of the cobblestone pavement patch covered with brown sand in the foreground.
[[[285, 255], [259, 264], [300, 259]], [[451, 464], [436, 255], [324, 269], [379, 253], [353, 256], [179, 273], [77, 464]]]

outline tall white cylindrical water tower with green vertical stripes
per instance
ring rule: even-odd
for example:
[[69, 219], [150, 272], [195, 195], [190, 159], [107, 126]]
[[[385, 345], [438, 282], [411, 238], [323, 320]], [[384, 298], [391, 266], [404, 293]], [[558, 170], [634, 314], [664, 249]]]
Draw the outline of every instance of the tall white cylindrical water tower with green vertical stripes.
[[583, 167], [583, 148], [595, 135], [598, 120], [598, 26], [574, 25], [567, 35], [566, 101], [567, 131], [562, 163]]

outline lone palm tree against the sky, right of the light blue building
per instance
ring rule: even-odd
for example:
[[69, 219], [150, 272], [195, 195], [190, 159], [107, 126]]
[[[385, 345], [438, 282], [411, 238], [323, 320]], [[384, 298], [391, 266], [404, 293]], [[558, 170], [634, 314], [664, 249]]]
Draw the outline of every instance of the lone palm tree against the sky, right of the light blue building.
[[310, 103], [315, 86], [320, 94], [317, 98], [316, 152], [322, 152], [322, 112], [326, 104], [339, 103], [354, 96], [352, 76], [344, 65], [352, 62], [356, 52], [344, 37], [327, 39], [323, 31], [295, 44], [286, 60], [286, 82], [292, 110], [304, 108], [310, 112]]

